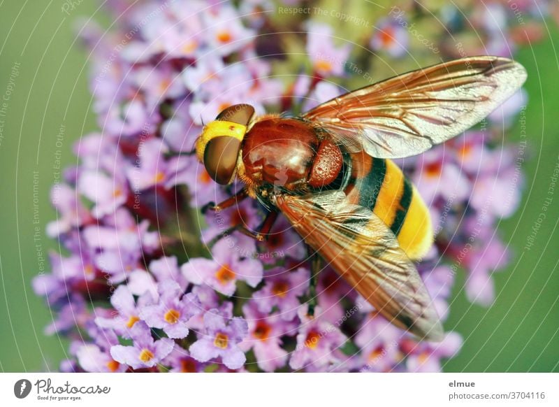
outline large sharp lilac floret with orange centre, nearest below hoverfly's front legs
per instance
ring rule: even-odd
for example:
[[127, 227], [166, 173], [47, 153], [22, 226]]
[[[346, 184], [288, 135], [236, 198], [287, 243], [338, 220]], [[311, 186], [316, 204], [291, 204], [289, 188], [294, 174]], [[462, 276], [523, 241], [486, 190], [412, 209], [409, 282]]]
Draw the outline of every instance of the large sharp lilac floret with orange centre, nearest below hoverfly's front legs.
[[182, 273], [192, 283], [207, 284], [228, 296], [235, 292], [237, 280], [244, 280], [250, 287], [256, 287], [262, 280], [261, 262], [240, 257], [225, 238], [215, 243], [212, 257], [191, 259], [182, 265]]

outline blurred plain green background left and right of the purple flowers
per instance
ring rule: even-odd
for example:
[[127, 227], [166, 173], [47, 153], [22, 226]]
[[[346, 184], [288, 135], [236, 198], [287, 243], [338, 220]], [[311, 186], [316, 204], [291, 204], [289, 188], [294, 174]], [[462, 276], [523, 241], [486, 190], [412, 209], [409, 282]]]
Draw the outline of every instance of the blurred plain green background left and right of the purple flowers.
[[[57, 159], [62, 167], [74, 164], [73, 142], [96, 129], [88, 52], [76, 39], [75, 22], [87, 16], [108, 27], [110, 21], [96, 2], [84, 1], [70, 15], [62, 12], [62, 3], [0, 2], [0, 94], [10, 78], [14, 88], [5, 115], [0, 114], [0, 371], [57, 371], [68, 347], [66, 339], [43, 334], [52, 315], [32, 292], [31, 278], [42, 267], [48, 271], [39, 250], [46, 257], [58, 249], [45, 236], [46, 224], [55, 218], [49, 191]], [[521, 207], [500, 226], [514, 259], [495, 275], [497, 299], [491, 308], [470, 304], [462, 290], [464, 276], [458, 276], [446, 327], [460, 332], [465, 343], [445, 371], [559, 371], [559, 187], [535, 245], [523, 249], [559, 163], [554, 45], [559, 31], [555, 24], [548, 27], [544, 41], [517, 57], [528, 69], [530, 159], [523, 166], [527, 183]], [[517, 141], [519, 133], [519, 127], [513, 129], [511, 139]]]

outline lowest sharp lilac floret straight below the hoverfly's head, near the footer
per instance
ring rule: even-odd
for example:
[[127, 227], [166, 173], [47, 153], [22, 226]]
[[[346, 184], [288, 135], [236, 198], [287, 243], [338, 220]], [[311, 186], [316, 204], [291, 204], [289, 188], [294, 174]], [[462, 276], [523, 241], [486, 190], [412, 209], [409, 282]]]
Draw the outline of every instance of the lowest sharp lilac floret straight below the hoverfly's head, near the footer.
[[190, 346], [190, 354], [200, 362], [221, 357], [228, 369], [239, 369], [247, 358], [238, 344], [247, 334], [247, 322], [241, 317], [226, 317], [211, 309], [204, 314], [204, 329]]

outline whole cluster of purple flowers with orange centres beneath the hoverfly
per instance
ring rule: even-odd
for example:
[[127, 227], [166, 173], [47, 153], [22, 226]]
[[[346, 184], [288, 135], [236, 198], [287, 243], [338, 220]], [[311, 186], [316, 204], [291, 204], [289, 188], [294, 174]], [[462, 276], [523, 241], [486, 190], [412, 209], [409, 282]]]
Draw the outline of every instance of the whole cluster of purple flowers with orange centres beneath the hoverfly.
[[[254, 229], [263, 218], [256, 201], [202, 210], [241, 185], [213, 183], [193, 153], [203, 123], [231, 104], [297, 114], [343, 88], [366, 85], [371, 76], [351, 66], [374, 71], [372, 60], [411, 52], [437, 62], [433, 47], [415, 41], [412, 3], [373, 28], [340, 31], [312, 15], [277, 19], [268, 0], [241, 3], [112, 1], [118, 31], [81, 30], [92, 50], [100, 131], [80, 138], [78, 166], [52, 189], [57, 220], [48, 234], [67, 254], [52, 253], [52, 273], [34, 279], [36, 293], [55, 310], [48, 333], [72, 340], [61, 369], [440, 370], [441, 359], [458, 352], [458, 334], [418, 342], [330, 269], [319, 275], [319, 306], [309, 317], [310, 266], [300, 237], [282, 217], [266, 242], [240, 234], [238, 225]], [[513, 35], [514, 13], [504, 3], [472, 7], [478, 31], [490, 38], [490, 16], [502, 19], [503, 41], [484, 51], [510, 56], [514, 38], [523, 38]], [[455, 21], [462, 14], [439, 11], [456, 36], [466, 35]], [[355, 29], [365, 34], [360, 47], [340, 40]], [[437, 50], [460, 56], [445, 51], [444, 37], [433, 34]], [[488, 304], [491, 273], [509, 257], [495, 223], [518, 205], [521, 150], [498, 134], [525, 103], [517, 96], [481, 129], [400, 163], [433, 211], [437, 241], [419, 269], [443, 320], [457, 269], [467, 270], [470, 299]]]

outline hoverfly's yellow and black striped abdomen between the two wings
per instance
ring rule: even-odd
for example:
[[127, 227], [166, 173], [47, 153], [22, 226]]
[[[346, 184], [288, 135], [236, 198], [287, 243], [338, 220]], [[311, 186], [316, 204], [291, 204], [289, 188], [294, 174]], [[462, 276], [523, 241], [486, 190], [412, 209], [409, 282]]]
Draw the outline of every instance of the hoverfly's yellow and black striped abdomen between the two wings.
[[351, 178], [345, 188], [351, 203], [369, 208], [398, 236], [410, 259], [420, 259], [433, 243], [429, 210], [414, 185], [390, 159], [350, 155]]

